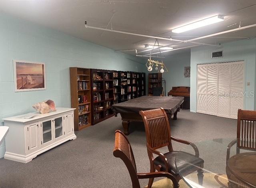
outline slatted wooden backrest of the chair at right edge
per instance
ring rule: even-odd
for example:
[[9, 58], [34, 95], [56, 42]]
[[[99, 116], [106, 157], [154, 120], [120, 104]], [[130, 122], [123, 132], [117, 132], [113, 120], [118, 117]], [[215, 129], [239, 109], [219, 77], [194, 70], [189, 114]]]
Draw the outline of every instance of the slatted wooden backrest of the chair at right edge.
[[256, 111], [238, 109], [238, 147], [256, 150]]

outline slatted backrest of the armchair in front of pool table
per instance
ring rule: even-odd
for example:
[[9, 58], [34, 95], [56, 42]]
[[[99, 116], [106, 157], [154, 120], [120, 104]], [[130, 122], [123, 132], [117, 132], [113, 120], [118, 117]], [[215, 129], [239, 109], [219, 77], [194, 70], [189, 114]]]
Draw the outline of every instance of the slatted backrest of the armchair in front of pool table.
[[170, 143], [170, 124], [163, 108], [140, 111], [142, 116], [147, 144], [158, 149], [169, 146]]

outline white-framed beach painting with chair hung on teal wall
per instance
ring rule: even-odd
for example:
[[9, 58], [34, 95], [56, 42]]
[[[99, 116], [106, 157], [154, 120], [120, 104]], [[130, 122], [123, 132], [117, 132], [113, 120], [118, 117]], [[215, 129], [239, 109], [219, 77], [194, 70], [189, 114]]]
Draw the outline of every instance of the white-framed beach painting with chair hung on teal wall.
[[45, 63], [14, 60], [13, 69], [15, 92], [46, 89]]

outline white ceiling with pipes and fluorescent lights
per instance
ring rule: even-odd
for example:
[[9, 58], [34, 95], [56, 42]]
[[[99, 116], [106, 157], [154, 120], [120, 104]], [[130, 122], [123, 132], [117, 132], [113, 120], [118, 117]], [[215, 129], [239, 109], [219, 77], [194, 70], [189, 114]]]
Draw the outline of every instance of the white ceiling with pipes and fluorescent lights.
[[[241, 26], [256, 24], [254, 4], [256, 0], [1, 0], [0, 11], [114, 50], [136, 48], [141, 51], [142, 45], [154, 44], [155, 40], [85, 28], [84, 21], [88, 26], [111, 29], [112, 25], [114, 30], [186, 40], [237, 28], [240, 21]], [[170, 32], [217, 14], [224, 15], [225, 21], [180, 34]], [[236, 25], [228, 27], [232, 24]], [[219, 44], [254, 36], [256, 27], [196, 42]], [[174, 48], [192, 45], [159, 42], [160, 45], [173, 44]]]

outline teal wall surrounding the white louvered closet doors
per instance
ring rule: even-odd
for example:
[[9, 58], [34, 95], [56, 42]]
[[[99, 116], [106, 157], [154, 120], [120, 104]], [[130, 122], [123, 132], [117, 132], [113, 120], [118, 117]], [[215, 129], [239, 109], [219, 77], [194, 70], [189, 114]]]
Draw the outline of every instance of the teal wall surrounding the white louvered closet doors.
[[[256, 87], [255, 64], [256, 64], [256, 39], [239, 40], [222, 44], [220, 47], [200, 46], [191, 49], [191, 77], [190, 77], [190, 111], [196, 112], [196, 72], [197, 64], [228, 62], [244, 60], [245, 66], [245, 91], [253, 91]], [[223, 58], [211, 58], [211, 52], [223, 50]], [[250, 82], [250, 86], [246, 86], [246, 82]], [[254, 110], [255, 97], [245, 98], [244, 107], [248, 110]], [[255, 108], [256, 109], [256, 108]]]

